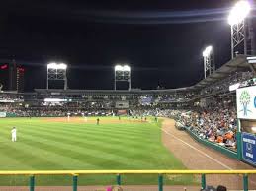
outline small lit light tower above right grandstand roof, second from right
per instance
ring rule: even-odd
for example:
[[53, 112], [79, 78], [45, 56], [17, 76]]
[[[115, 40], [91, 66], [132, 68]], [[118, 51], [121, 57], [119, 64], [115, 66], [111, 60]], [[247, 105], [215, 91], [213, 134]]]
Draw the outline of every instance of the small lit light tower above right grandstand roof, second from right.
[[205, 78], [207, 78], [208, 74], [211, 75], [215, 70], [215, 64], [213, 59], [213, 46], [208, 46], [203, 51], [204, 57], [204, 72]]

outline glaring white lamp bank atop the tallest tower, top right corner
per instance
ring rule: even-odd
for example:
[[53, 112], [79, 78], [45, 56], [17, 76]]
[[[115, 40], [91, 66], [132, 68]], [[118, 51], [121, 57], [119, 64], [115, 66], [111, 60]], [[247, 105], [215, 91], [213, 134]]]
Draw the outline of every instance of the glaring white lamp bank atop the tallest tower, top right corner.
[[228, 24], [233, 26], [242, 23], [243, 20], [249, 15], [251, 6], [248, 1], [238, 1], [230, 11], [228, 16]]

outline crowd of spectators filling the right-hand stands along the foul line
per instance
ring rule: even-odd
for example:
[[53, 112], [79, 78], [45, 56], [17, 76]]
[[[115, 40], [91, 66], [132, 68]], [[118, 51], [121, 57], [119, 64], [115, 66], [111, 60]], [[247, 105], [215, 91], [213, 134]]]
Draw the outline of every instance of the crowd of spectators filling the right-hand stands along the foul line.
[[198, 137], [235, 149], [237, 120], [234, 100], [229, 96], [212, 97], [206, 107], [133, 110], [132, 114], [175, 118]]

